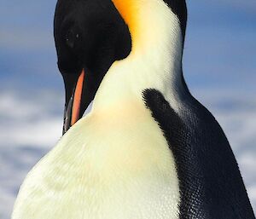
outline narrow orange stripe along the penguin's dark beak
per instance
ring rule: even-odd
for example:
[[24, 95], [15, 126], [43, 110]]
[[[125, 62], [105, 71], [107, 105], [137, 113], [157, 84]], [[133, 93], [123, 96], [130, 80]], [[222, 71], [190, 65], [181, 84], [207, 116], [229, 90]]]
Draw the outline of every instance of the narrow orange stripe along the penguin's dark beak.
[[84, 69], [79, 76], [79, 80], [78, 80], [74, 97], [73, 97], [71, 125], [75, 124], [79, 120], [83, 84], [84, 84]]

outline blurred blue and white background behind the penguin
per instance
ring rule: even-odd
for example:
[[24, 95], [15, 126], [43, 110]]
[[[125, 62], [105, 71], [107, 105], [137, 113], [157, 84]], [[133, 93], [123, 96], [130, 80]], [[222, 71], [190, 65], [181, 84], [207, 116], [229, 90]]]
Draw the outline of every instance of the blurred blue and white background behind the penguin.
[[[187, 1], [184, 76], [218, 119], [256, 210], [256, 1]], [[61, 137], [64, 87], [55, 1], [0, 1], [0, 218], [28, 170]]]

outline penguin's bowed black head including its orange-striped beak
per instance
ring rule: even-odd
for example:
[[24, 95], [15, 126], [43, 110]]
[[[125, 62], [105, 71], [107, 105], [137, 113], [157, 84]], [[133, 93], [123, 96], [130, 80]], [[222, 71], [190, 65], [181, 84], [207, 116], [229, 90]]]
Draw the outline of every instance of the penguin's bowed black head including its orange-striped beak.
[[66, 89], [64, 134], [83, 116], [113, 62], [130, 54], [131, 35], [111, 0], [59, 0], [55, 46]]

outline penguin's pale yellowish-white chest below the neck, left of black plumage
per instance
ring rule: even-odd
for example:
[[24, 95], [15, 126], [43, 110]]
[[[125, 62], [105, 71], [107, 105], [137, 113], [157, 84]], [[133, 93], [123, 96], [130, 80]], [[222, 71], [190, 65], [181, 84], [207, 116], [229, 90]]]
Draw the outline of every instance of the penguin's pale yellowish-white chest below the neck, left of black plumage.
[[177, 219], [176, 166], [154, 119], [111, 123], [74, 126], [27, 176], [13, 219]]

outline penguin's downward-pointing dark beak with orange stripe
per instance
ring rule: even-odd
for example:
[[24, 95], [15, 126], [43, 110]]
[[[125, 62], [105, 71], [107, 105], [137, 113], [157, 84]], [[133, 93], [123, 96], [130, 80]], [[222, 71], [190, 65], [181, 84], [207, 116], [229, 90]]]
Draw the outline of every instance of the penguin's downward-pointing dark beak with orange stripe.
[[[66, 88], [66, 107], [64, 113], [63, 135], [83, 117], [85, 109], [90, 102], [84, 102], [84, 68], [79, 74], [63, 75]], [[67, 83], [68, 81], [68, 83]]]

